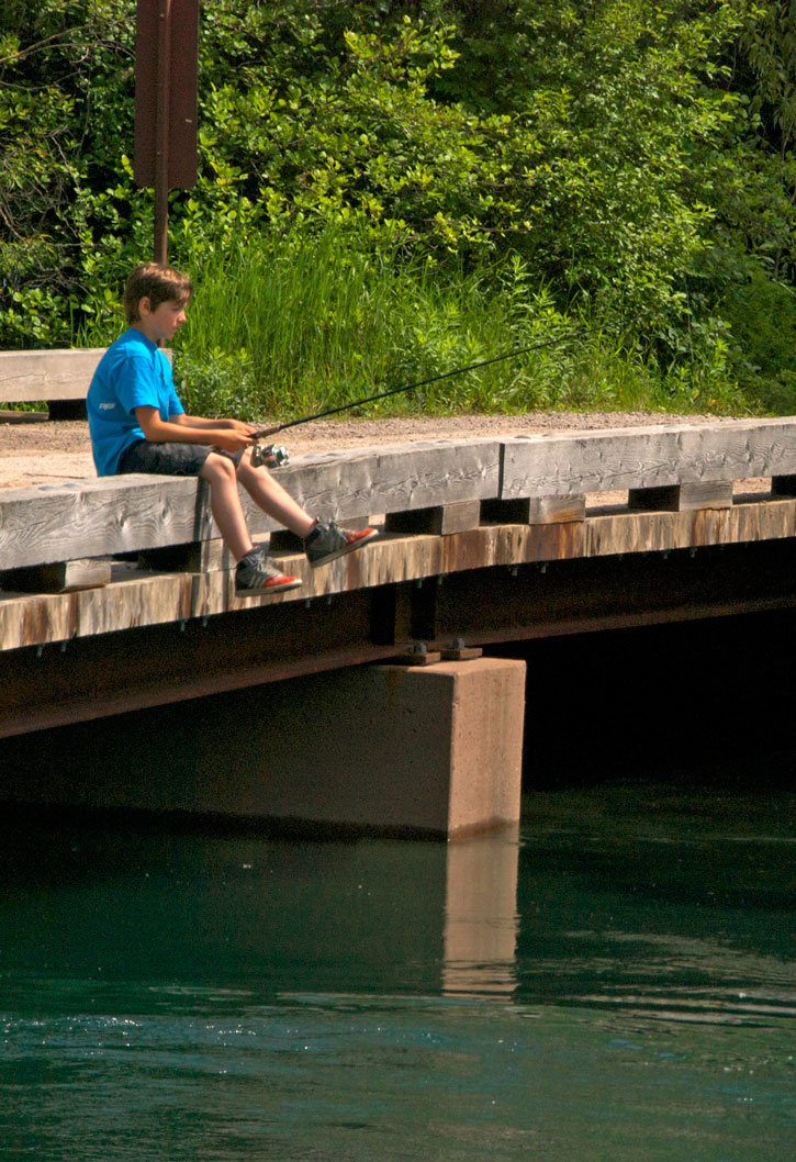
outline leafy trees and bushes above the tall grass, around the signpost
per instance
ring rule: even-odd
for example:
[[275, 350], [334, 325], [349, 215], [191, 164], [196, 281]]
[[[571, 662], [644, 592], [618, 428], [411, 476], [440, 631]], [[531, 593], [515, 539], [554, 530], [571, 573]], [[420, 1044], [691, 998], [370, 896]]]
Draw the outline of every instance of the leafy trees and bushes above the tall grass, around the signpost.
[[[171, 253], [201, 272], [232, 239], [332, 231], [495, 279], [517, 256], [559, 310], [634, 320], [664, 368], [719, 365], [730, 325], [754, 378], [751, 288], [790, 311], [795, 20], [753, 0], [214, 0]], [[134, 31], [135, 0], [0, 12], [2, 345], [81, 318], [101, 335], [151, 251]]]

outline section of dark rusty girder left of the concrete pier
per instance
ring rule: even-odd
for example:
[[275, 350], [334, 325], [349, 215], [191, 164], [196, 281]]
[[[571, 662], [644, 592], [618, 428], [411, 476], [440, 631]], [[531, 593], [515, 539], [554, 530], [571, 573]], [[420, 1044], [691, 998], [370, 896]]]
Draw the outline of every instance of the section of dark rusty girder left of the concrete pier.
[[0, 738], [392, 657], [371, 641], [372, 609], [373, 595], [347, 594], [0, 653]]

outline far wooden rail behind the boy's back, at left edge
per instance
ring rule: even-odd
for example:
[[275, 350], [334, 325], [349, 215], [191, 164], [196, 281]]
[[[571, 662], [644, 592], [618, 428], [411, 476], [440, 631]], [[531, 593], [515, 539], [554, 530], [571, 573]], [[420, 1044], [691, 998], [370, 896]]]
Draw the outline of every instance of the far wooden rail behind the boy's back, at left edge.
[[[106, 347], [63, 351], [0, 351], [0, 400], [85, 400]], [[164, 354], [171, 359], [172, 351]]]

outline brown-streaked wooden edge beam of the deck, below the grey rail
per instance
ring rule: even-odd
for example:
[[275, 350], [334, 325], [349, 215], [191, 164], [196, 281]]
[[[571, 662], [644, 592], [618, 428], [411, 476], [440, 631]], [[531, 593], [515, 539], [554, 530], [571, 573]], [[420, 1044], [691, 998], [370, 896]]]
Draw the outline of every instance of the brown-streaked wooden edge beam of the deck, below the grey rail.
[[[142, 625], [188, 622], [259, 605], [279, 607], [334, 600], [360, 589], [387, 594], [403, 582], [423, 581], [423, 600], [404, 610], [402, 636], [428, 637], [435, 617], [437, 579], [493, 567], [519, 571], [578, 558], [666, 553], [796, 537], [796, 498], [697, 512], [616, 512], [583, 522], [548, 525], [482, 525], [450, 536], [388, 535], [361, 552], [313, 569], [306, 557], [284, 554], [280, 564], [303, 579], [303, 587], [268, 597], [237, 597], [230, 571], [136, 573], [116, 568], [103, 589], [72, 594], [15, 594], [0, 590], [0, 652], [67, 641]], [[428, 596], [425, 590], [428, 589]], [[396, 615], [399, 616], [399, 615]]]

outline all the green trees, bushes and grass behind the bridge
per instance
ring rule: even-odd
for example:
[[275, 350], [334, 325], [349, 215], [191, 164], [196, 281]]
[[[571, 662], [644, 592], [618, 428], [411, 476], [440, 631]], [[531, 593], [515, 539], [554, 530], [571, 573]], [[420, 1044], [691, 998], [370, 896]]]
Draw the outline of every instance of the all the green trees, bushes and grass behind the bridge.
[[[602, 385], [722, 409], [740, 388], [793, 410], [740, 304], [794, 278], [795, 19], [753, 0], [202, 5], [199, 178], [170, 198], [207, 321], [185, 342], [198, 399], [304, 410], [588, 320], [598, 340], [430, 399], [587, 406]], [[107, 342], [151, 253], [134, 34], [135, 0], [0, 13], [0, 346]], [[229, 318], [213, 286], [239, 299]]]

